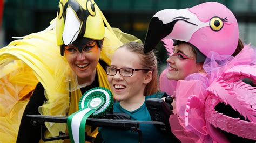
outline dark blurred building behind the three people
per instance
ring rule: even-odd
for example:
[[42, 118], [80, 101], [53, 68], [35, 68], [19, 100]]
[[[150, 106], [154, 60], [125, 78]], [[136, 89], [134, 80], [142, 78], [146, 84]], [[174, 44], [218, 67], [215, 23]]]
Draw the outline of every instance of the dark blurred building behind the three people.
[[[56, 17], [59, 3], [58, 0], [0, 1], [4, 1], [0, 47], [14, 40], [12, 36], [23, 36], [44, 30]], [[167, 8], [190, 8], [208, 0], [95, 0], [95, 2], [112, 27], [118, 27], [144, 41], [150, 18], [157, 11]], [[240, 38], [245, 43], [256, 46], [256, 0], [215, 2], [222, 3], [233, 11], [238, 19]], [[157, 51], [160, 64], [165, 65], [167, 58], [165, 49], [157, 48]]]

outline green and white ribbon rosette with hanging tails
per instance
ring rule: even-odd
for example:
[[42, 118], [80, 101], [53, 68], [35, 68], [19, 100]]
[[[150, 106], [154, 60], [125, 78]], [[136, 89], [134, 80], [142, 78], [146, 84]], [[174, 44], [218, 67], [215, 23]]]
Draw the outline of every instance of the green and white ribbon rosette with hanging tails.
[[102, 117], [113, 110], [113, 95], [102, 87], [92, 88], [84, 93], [79, 101], [79, 110], [68, 117], [68, 130], [71, 142], [85, 142], [85, 124], [89, 116]]

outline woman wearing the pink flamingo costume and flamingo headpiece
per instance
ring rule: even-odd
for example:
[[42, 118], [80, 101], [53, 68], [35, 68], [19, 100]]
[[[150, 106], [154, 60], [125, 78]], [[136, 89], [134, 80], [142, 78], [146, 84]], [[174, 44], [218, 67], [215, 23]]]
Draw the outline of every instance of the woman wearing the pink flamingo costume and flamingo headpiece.
[[[160, 40], [170, 52], [159, 85], [176, 103], [169, 119], [173, 134], [181, 142], [255, 142], [256, 51], [239, 45], [233, 13], [217, 2], [161, 10], [150, 21], [144, 52]], [[182, 52], [187, 45], [194, 57]], [[191, 64], [175, 68], [178, 62]], [[186, 76], [175, 77], [181, 71]]]

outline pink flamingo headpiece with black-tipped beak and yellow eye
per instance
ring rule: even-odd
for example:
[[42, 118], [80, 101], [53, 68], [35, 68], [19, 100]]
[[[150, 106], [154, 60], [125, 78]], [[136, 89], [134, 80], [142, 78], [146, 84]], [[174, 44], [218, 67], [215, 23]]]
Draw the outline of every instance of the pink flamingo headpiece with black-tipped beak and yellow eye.
[[220, 3], [207, 2], [180, 10], [165, 9], [157, 12], [150, 21], [144, 52], [151, 51], [161, 39], [168, 38], [192, 44], [198, 49], [197, 55], [198, 51], [205, 56], [210, 51], [231, 55], [237, 48], [238, 34], [235, 16]]

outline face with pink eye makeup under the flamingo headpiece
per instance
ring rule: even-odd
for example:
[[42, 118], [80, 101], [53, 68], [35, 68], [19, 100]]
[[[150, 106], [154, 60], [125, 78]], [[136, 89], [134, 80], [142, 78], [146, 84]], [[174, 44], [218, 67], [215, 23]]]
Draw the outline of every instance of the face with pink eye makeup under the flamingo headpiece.
[[166, 61], [169, 65], [166, 75], [169, 80], [184, 80], [202, 68], [200, 63], [196, 63], [196, 54], [192, 47], [186, 43], [174, 46], [173, 54]]

